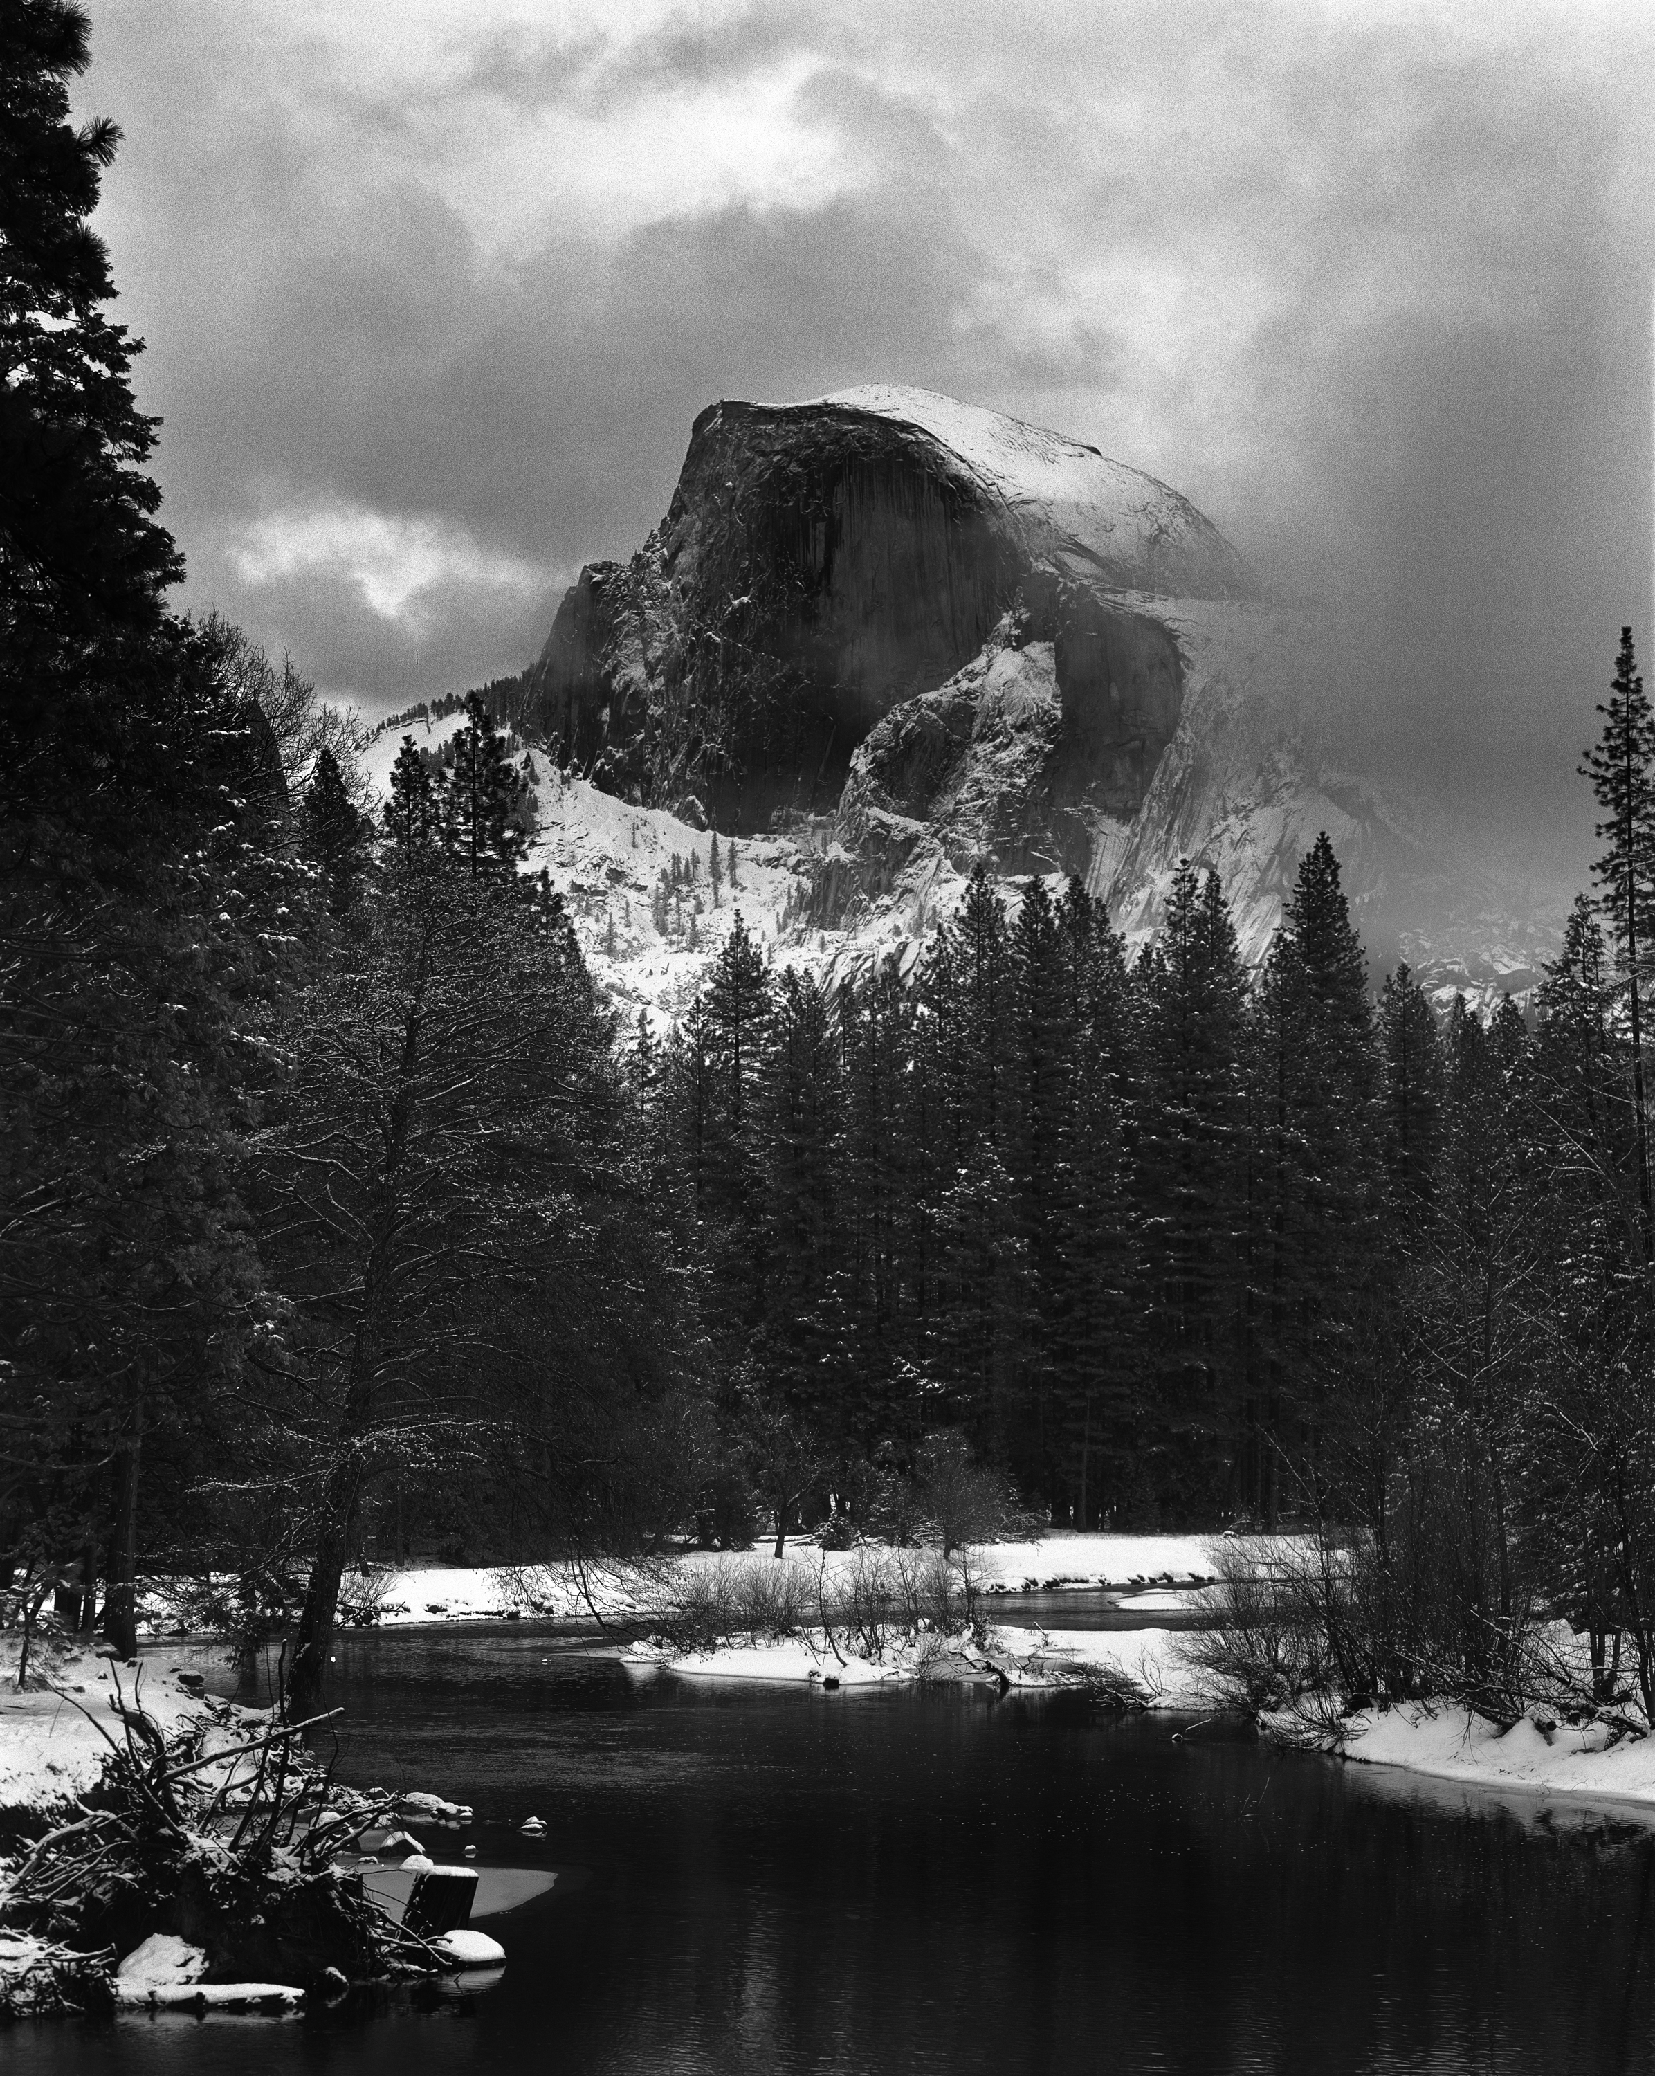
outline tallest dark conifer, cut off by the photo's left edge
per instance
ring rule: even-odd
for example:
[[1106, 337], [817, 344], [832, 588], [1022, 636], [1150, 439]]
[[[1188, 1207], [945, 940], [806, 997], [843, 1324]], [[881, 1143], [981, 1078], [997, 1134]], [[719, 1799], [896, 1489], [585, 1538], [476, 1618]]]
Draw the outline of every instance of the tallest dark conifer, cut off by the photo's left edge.
[[303, 899], [264, 841], [270, 733], [164, 612], [85, 64], [83, 8], [0, 8], [0, 1576], [50, 1528], [83, 1619], [108, 1565], [131, 1650], [141, 1468], [235, 1368], [235, 1109]]

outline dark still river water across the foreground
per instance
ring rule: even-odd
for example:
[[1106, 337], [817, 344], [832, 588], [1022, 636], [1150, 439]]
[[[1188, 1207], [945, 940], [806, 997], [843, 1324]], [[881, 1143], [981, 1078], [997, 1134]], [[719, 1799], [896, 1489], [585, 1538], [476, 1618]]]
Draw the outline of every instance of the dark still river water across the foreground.
[[494, 1924], [503, 1981], [12, 2028], [6, 2076], [1655, 2068], [1630, 1821], [1069, 1696], [633, 1684], [534, 1632], [351, 1640], [338, 1671], [347, 1777], [473, 1802], [484, 1860], [565, 1873]]

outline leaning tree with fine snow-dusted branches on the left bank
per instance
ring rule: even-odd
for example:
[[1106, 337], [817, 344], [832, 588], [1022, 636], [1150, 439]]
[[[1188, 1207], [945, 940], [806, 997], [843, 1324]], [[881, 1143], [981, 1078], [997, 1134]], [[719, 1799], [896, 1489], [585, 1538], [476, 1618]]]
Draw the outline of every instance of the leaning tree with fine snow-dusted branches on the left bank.
[[291, 1046], [255, 1148], [287, 1306], [255, 1366], [314, 1551], [289, 1682], [309, 1706], [363, 1497], [480, 1416], [480, 1351], [498, 1351], [509, 1293], [550, 1273], [554, 1214], [623, 1104], [567, 922], [438, 853], [388, 866]]

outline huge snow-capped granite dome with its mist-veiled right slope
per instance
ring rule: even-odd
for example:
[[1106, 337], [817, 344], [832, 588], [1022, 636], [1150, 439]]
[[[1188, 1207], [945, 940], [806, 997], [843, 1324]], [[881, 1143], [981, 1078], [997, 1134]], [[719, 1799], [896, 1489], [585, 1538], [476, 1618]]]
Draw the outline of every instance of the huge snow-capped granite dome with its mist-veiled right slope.
[[1341, 745], [1344, 658], [1177, 490], [868, 386], [702, 411], [667, 517], [565, 596], [527, 712], [617, 799], [799, 847], [820, 932], [922, 936], [984, 859], [1082, 878], [1144, 940], [1190, 857], [1256, 963], [1325, 828], [1375, 976], [1526, 992], [1555, 903]]

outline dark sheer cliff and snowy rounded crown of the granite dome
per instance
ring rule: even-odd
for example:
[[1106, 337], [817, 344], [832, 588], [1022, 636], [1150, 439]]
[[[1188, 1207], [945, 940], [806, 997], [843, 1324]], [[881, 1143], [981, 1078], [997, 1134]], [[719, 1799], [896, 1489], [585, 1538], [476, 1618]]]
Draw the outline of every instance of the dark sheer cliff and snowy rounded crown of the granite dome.
[[[1130, 816], [1177, 725], [1175, 644], [1105, 596], [1167, 581], [1252, 583], [1175, 492], [1057, 434], [916, 390], [723, 403], [696, 419], [644, 548], [563, 600], [540, 718], [608, 791], [696, 795], [716, 826], [752, 830], [831, 805], [870, 733], [1009, 617], [1005, 641], [1051, 644], [1057, 708], [1020, 695], [972, 741], [1009, 731], [1022, 756], [1042, 735], [1040, 828], [1018, 845], [1049, 847], [1053, 816]], [[953, 729], [914, 720], [934, 727]]]

